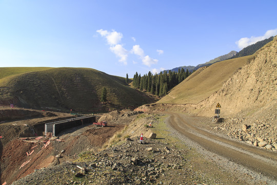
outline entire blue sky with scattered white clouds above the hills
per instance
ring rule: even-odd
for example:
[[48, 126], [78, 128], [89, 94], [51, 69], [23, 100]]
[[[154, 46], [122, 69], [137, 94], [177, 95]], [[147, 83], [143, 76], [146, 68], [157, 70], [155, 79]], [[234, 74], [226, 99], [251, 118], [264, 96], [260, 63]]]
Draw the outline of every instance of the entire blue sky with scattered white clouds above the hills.
[[196, 66], [277, 34], [277, 1], [0, 0], [0, 67], [132, 78]]

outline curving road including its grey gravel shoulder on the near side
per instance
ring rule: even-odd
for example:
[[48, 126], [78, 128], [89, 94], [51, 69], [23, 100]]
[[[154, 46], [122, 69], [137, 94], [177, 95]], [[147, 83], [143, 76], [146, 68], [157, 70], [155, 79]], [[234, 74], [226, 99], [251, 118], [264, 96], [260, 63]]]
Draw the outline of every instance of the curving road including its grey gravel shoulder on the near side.
[[203, 122], [208, 119], [168, 114], [170, 116], [166, 123], [170, 132], [221, 168], [234, 172], [241, 178], [249, 178], [253, 184], [257, 181], [277, 184], [277, 153], [212, 133], [208, 128], [203, 128]]

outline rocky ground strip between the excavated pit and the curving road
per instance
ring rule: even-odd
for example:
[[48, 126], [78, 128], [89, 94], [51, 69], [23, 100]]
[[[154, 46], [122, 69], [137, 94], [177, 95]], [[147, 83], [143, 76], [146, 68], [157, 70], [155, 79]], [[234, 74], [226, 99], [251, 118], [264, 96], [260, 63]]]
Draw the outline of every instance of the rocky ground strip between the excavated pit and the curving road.
[[[104, 117], [108, 118], [108, 115]], [[104, 144], [105, 149], [82, 152], [60, 165], [35, 170], [34, 173], [13, 184], [266, 183], [254, 180], [247, 174], [237, 176], [231, 173], [235, 169], [228, 171], [211, 160], [204, 159], [205, 157], [197, 154], [191, 146], [188, 147], [182, 141], [170, 136], [170, 128], [165, 124], [165, 117], [165, 115], [137, 115], [128, 127]], [[150, 122], [152, 128], [147, 126]], [[152, 131], [157, 133], [157, 138], [149, 138]], [[139, 142], [140, 137], [137, 133], [141, 132], [148, 133], [147, 137], [144, 137], [145, 144]], [[57, 157], [61, 160], [65, 157], [65, 153]]]

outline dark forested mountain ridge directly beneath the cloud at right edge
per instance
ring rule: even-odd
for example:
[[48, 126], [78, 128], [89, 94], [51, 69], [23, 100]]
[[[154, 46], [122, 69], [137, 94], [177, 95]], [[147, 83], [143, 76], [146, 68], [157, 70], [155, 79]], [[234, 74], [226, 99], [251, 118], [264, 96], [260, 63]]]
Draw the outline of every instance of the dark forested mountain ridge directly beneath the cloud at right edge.
[[264, 45], [266, 45], [267, 43], [269, 43], [271, 41], [273, 41], [273, 36], [271, 36], [270, 38], [265, 39], [263, 41], [259, 41], [259, 42], [256, 42], [255, 44], [247, 46], [247, 47], [243, 48], [238, 54], [234, 55], [232, 57], [232, 59], [254, 54], [256, 51], [258, 51], [260, 48], [262, 48]]

